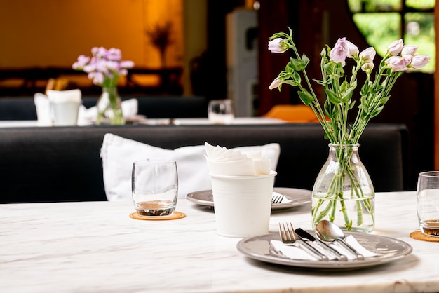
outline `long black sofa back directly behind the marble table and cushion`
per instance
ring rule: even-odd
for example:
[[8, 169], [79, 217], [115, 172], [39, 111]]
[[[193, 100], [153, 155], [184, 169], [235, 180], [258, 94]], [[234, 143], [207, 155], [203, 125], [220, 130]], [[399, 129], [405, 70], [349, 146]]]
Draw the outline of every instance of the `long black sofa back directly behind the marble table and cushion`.
[[[376, 191], [404, 189], [406, 131], [402, 125], [371, 124], [361, 137], [360, 158]], [[328, 154], [323, 130], [313, 123], [0, 128], [0, 203], [106, 200], [100, 158], [105, 133], [165, 149], [277, 142], [275, 185], [302, 189], [312, 189]]]

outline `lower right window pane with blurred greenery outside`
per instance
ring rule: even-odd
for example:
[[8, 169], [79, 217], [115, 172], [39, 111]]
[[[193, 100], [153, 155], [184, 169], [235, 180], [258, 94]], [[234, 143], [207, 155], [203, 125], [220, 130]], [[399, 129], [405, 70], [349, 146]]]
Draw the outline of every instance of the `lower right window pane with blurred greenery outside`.
[[405, 14], [404, 43], [417, 45], [417, 53], [431, 57], [426, 67], [419, 69], [424, 72], [435, 71], [435, 29], [434, 13]]

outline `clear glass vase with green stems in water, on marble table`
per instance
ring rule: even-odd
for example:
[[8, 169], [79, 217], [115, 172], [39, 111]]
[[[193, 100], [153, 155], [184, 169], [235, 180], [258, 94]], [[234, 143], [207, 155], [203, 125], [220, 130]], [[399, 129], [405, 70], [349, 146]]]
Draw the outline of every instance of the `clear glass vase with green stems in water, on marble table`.
[[313, 186], [313, 228], [327, 219], [344, 231], [374, 230], [375, 192], [358, 156], [358, 147], [358, 144], [329, 144], [329, 156]]

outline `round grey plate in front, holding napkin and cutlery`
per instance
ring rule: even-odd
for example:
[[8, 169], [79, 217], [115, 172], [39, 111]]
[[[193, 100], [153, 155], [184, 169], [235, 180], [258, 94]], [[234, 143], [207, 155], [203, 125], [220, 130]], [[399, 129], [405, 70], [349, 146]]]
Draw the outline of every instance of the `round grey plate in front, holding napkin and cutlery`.
[[[314, 231], [308, 231], [315, 235]], [[309, 261], [301, 259], [290, 259], [283, 254], [274, 250], [271, 246], [271, 240], [281, 240], [279, 233], [268, 233], [259, 236], [250, 236], [243, 238], [238, 242], [236, 247], [239, 252], [245, 256], [259, 261], [269, 262], [271, 264], [283, 264], [285, 266], [297, 266], [303, 268], [367, 268], [386, 264], [397, 259], [407, 257], [412, 253], [412, 247], [404, 241], [386, 236], [378, 236], [366, 233], [345, 232], [346, 236], [352, 235], [360, 245], [367, 250], [379, 254], [376, 257], [366, 257], [364, 260], [352, 259], [349, 261]]]

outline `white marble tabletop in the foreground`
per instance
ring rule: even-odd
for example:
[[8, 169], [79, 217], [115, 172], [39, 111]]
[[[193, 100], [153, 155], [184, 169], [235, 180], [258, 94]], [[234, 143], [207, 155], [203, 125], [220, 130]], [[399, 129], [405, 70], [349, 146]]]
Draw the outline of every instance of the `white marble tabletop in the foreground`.
[[[290, 221], [311, 228], [310, 204], [279, 210], [271, 230]], [[0, 205], [1, 292], [438, 292], [439, 243], [418, 229], [414, 192], [377, 193], [374, 233], [409, 243], [390, 264], [318, 271], [255, 261], [240, 238], [215, 233], [215, 215], [180, 199], [186, 217], [140, 221], [131, 202]]]

